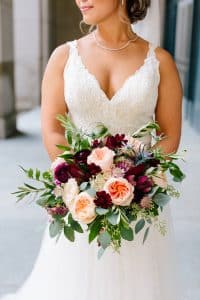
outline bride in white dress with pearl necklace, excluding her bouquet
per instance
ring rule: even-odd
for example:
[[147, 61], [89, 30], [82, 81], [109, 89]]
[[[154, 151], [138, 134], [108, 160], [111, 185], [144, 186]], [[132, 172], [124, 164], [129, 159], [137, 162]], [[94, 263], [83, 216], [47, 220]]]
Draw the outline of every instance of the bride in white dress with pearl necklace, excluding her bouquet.
[[[42, 135], [50, 159], [60, 153], [55, 144], [66, 144], [55, 118], [65, 112], [78, 127], [90, 131], [101, 121], [111, 133], [133, 132], [155, 118], [167, 137], [153, 147], [176, 151], [183, 96], [176, 64], [134, 31], [150, 0], [76, 4], [92, 28], [53, 51], [42, 81]], [[85, 234], [76, 243], [61, 236], [56, 244], [47, 224], [30, 276], [3, 300], [180, 300], [169, 205], [161, 218], [165, 236], [152, 229], [144, 245], [138, 235], [133, 243], [124, 241], [120, 255], [107, 250], [100, 260], [97, 243], [89, 245]]]

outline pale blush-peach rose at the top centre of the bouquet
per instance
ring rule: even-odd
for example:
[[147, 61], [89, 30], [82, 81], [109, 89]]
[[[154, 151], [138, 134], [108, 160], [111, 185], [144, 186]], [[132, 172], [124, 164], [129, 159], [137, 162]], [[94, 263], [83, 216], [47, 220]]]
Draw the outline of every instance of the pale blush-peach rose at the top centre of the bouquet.
[[87, 163], [94, 163], [95, 165], [101, 167], [103, 171], [106, 171], [111, 168], [114, 155], [115, 152], [108, 147], [98, 147], [93, 149], [90, 155], [88, 155]]

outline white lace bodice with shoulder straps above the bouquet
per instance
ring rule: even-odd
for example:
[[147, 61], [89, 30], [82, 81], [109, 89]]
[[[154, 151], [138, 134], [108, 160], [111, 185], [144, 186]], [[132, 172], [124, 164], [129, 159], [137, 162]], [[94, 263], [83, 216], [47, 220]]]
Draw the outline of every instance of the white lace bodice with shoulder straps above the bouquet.
[[[160, 82], [154, 44], [149, 43], [142, 66], [126, 79], [110, 100], [83, 64], [77, 40], [67, 44], [70, 49], [63, 74], [64, 95], [69, 115], [77, 127], [91, 132], [98, 122], [103, 122], [112, 134], [128, 134], [154, 119]], [[144, 139], [150, 143], [150, 137]]]

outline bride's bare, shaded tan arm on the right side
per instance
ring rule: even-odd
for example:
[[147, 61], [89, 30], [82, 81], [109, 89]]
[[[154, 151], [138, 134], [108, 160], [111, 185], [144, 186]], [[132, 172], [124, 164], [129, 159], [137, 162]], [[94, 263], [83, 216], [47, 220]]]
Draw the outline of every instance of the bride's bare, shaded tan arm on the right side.
[[183, 89], [171, 54], [162, 48], [157, 51], [160, 84], [155, 119], [166, 138], [156, 143], [153, 148], [160, 147], [165, 153], [172, 153], [177, 151], [180, 143]]

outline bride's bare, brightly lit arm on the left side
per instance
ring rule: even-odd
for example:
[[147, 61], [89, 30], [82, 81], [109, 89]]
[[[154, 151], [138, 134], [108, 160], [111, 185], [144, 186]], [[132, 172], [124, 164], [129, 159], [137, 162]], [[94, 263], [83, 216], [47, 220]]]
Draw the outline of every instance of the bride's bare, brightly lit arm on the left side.
[[64, 128], [56, 120], [56, 115], [68, 112], [64, 99], [63, 79], [63, 70], [68, 54], [69, 50], [66, 45], [60, 45], [52, 52], [41, 85], [42, 139], [52, 161], [61, 153], [61, 150], [55, 145], [67, 145]]

